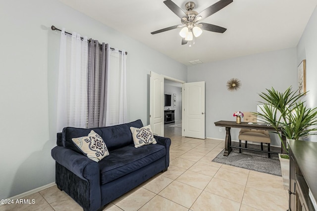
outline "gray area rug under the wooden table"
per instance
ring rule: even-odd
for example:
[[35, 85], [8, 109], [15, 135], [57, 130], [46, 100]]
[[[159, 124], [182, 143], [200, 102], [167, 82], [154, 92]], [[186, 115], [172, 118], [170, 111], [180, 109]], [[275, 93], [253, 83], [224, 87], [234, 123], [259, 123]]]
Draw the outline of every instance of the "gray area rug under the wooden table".
[[[233, 146], [239, 146], [239, 142], [232, 142]], [[242, 143], [244, 147], [244, 143]], [[260, 145], [248, 143], [248, 148], [261, 149]], [[266, 144], [264, 144], [264, 150], [267, 150]], [[280, 152], [280, 148], [270, 147], [271, 152]], [[239, 149], [232, 148], [232, 151], [228, 157], [223, 156], [224, 150], [222, 150], [212, 161], [220, 164], [226, 164], [230, 166], [240, 167], [243, 169], [250, 169], [259, 172], [269, 173], [277, 176], [281, 176], [281, 165], [278, 160], [278, 155], [271, 154], [271, 158], [267, 158], [267, 153], [256, 152], [250, 150], [243, 150], [239, 153]]]

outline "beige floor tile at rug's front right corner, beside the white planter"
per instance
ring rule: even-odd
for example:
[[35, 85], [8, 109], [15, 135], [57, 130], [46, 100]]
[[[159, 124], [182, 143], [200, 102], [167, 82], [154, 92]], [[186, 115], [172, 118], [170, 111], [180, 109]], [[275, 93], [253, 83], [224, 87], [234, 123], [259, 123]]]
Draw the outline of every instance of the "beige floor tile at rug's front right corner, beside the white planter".
[[250, 171], [247, 187], [286, 197], [281, 176]]

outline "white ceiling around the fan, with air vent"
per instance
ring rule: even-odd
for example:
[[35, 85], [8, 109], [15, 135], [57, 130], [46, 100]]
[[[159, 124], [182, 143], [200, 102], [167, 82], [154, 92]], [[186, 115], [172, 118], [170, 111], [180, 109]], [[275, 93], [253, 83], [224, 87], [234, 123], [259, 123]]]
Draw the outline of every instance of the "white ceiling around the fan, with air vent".
[[[195, 44], [181, 45], [180, 29], [152, 35], [181, 24], [163, 0], [60, 0], [105, 25], [143, 42], [187, 66], [265, 51], [295, 47], [317, 0], [233, 0], [202, 22], [227, 28], [223, 34], [203, 31]], [[218, 0], [193, 0], [198, 13]], [[173, 0], [186, 11], [187, 0]]]

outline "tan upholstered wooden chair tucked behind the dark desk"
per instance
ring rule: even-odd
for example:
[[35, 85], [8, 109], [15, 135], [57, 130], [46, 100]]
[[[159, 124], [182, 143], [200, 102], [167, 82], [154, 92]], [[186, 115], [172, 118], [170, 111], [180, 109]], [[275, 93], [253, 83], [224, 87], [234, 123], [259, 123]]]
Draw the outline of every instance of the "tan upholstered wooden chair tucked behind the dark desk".
[[[257, 123], [256, 116], [251, 112], [243, 112], [244, 122]], [[267, 130], [260, 129], [244, 129], [241, 128], [239, 132], [239, 147], [241, 147], [241, 140], [245, 141], [245, 148], [247, 148], [248, 141], [255, 141], [261, 143], [261, 150], [263, 151], [263, 143], [267, 144], [267, 152], [270, 152], [271, 139]], [[241, 153], [241, 149], [239, 149]], [[268, 158], [270, 153], [268, 153]]]

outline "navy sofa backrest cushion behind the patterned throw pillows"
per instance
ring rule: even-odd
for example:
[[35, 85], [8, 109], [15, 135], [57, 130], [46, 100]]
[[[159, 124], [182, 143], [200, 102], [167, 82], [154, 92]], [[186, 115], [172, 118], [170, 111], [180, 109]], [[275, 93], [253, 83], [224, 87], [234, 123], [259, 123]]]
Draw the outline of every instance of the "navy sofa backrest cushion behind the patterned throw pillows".
[[72, 149], [78, 153], [82, 152], [75, 146], [72, 138], [86, 136], [92, 129], [98, 133], [105, 141], [108, 150], [118, 149], [133, 143], [130, 127], [143, 127], [141, 120], [122, 125], [109, 127], [95, 127], [95, 128], [63, 128], [63, 146], [67, 149]]

